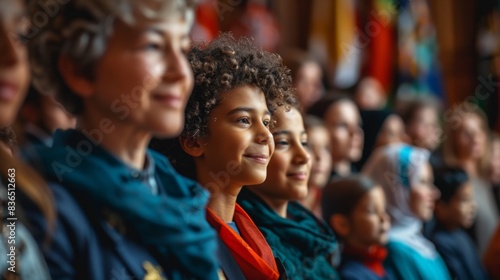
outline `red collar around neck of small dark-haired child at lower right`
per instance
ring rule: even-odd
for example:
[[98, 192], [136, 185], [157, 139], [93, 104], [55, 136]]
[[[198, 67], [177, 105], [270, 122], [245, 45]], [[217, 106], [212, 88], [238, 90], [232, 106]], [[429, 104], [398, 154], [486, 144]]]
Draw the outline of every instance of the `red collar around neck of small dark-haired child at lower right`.
[[343, 255], [360, 261], [368, 267], [373, 273], [379, 277], [385, 276], [383, 262], [387, 257], [387, 249], [382, 246], [371, 246], [368, 250], [353, 248], [350, 246], [344, 247]]

